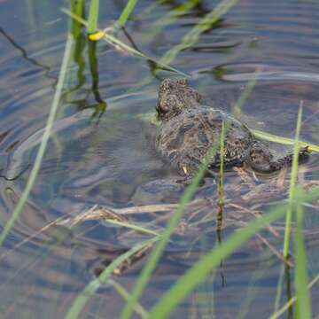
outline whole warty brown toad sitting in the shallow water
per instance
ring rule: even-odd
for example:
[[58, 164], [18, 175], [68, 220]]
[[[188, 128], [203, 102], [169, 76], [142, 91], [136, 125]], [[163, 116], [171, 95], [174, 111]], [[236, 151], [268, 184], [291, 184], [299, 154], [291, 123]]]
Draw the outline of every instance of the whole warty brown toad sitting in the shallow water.
[[[247, 162], [257, 171], [272, 172], [292, 162], [292, 154], [274, 159], [268, 147], [257, 141], [244, 124], [219, 109], [201, 105], [200, 100], [198, 92], [184, 79], [166, 79], [160, 84], [156, 110], [161, 124], [156, 149], [180, 175], [193, 175], [211, 146], [219, 144], [222, 122], [227, 128], [224, 138], [226, 167]], [[307, 149], [301, 150], [300, 159], [306, 157]], [[219, 165], [220, 152], [217, 152], [209, 160], [208, 168]]]

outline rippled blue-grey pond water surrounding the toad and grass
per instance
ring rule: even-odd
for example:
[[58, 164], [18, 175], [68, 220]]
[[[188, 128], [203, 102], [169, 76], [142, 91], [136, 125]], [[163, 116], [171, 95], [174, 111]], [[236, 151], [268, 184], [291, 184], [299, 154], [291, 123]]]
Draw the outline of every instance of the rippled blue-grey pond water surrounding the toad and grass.
[[[161, 3], [139, 1], [126, 35], [118, 35], [156, 58], [180, 43], [217, 4], [198, 1], [189, 12], [179, 14], [176, 8], [180, 3]], [[124, 4], [101, 2], [99, 25], [109, 26]], [[66, 15], [60, 12], [63, 6], [69, 4], [62, 0], [0, 1], [0, 147], [2, 175], [6, 176], [0, 179], [2, 227], [26, 185], [51, 107], [68, 29]], [[318, 12], [319, 4], [306, 0], [239, 1], [171, 65], [190, 74], [191, 84], [226, 111], [231, 111], [260, 68], [258, 83], [243, 106], [243, 121], [251, 128], [293, 137], [302, 99], [301, 137], [319, 144]], [[139, 117], [153, 111], [159, 82], [176, 76], [164, 70], [155, 74], [154, 67], [106, 43], [88, 44], [84, 32], [75, 39], [53, 138], [27, 205], [0, 250], [0, 306], [5, 318], [65, 315], [105, 264], [144, 238], [125, 237], [121, 229], [98, 221], [36, 234], [49, 222], [77, 216], [96, 204], [115, 209], [172, 204], [181, 196], [183, 187], [167, 182], [176, 175], [153, 150], [151, 125]], [[277, 146], [277, 151], [284, 152], [283, 146]], [[216, 186], [207, 180], [200, 187], [196, 197], [199, 202], [206, 200], [206, 205], [189, 209], [183, 222], [196, 223], [205, 215], [212, 221], [176, 232], [141, 298], [146, 309], [200, 253], [253, 220], [247, 211], [262, 213], [284, 200], [286, 188], [276, 187], [277, 175], [258, 178], [256, 182], [251, 174], [226, 173], [227, 201], [220, 232], [216, 231]], [[317, 154], [300, 167], [300, 179], [305, 185], [317, 183]], [[284, 177], [288, 180], [289, 173]], [[305, 206], [305, 212], [312, 278], [319, 270], [317, 203]], [[161, 230], [166, 220], [156, 222], [160, 216], [148, 213], [129, 218], [141, 223], [155, 221], [153, 229]], [[280, 250], [284, 223], [276, 222], [274, 228], [276, 236], [269, 230], [261, 235]], [[129, 291], [143, 265], [144, 261], [137, 262], [113, 279]], [[281, 305], [293, 295], [293, 268], [284, 270], [282, 265], [261, 238], [254, 237], [223, 261], [173, 317], [233, 318], [241, 314], [266, 318], [274, 311], [278, 281]], [[318, 293], [314, 287], [315, 315], [319, 312]], [[107, 318], [116, 318], [123, 305], [121, 295], [107, 284], [90, 299], [82, 317], [107, 314]], [[292, 317], [293, 311], [284, 316]]]

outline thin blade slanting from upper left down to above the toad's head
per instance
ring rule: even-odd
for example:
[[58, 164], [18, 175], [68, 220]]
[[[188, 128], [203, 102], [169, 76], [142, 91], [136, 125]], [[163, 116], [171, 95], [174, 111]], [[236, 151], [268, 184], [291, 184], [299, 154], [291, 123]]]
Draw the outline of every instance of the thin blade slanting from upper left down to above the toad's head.
[[[77, 20], [78, 22], [82, 23], [83, 26], [85, 27], [88, 27], [88, 22], [85, 20], [85, 19], [82, 19], [81, 17], [77, 16], [76, 14], [74, 14], [73, 12], [70, 12], [69, 10], [67, 10], [66, 8], [62, 8], [61, 9], [62, 12], [66, 13], [68, 16], [70, 16], [71, 18]], [[102, 30], [100, 29], [97, 29], [97, 31], [99, 32], [103, 32]], [[145, 55], [144, 53], [140, 52], [140, 51], [137, 51], [136, 49], [130, 47], [128, 44], [126, 43], [122, 43], [120, 40], [118, 40], [117, 38], [115, 38], [113, 35], [109, 35], [107, 33], [104, 33], [104, 36], [103, 36], [104, 40], [113, 45], [113, 47], [115, 47], [116, 49], [121, 49], [123, 51], [126, 51], [130, 54], [135, 54], [136, 56], [138, 57], [141, 57], [141, 58], [145, 58], [145, 59], [148, 59], [156, 64], [158, 64], [159, 66], [163, 67], [163, 68], [166, 68], [167, 70], [170, 70], [172, 72], [175, 72], [177, 74], [180, 74], [180, 75], [183, 75], [185, 77], [188, 77], [190, 78], [190, 75], [189, 74], [185, 74], [177, 69], [175, 69], [175, 67], [172, 67], [172, 66], [168, 66], [166, 63], [162, 63], [160, 62], [160, 60], [157, 60], [155, 58], [152, 58], [152, 57], [149, 57], [147, 55]]]

